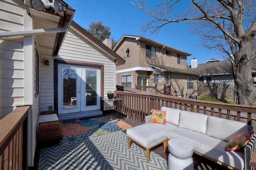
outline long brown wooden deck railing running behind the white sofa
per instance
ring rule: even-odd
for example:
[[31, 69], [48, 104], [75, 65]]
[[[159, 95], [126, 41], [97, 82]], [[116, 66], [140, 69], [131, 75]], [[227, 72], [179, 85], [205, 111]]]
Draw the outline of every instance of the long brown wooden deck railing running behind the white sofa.
[[255, 131], [256, 106], [206, 102], [156, 94], [139, 94], [120, 91], [115, 91], [115, 93], [118, 98], [122, 98], [116, 107], [117, 111], [141, 123], [145, 123], [145, 116], [151, 114], [151, 109], [159, 110], [162, 106], [166, 106], [241, 121], [252, 125]]

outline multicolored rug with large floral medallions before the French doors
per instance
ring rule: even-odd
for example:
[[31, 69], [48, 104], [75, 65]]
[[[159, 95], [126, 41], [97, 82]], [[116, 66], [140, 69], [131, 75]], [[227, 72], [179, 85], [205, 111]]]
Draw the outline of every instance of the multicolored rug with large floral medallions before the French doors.
[[62, 140], [60, 144], [84, 141], [88, 137], [97, 137], [132, 127], [122, 120], [108, 115], [92, 119], [80, 118], [62, 121]]

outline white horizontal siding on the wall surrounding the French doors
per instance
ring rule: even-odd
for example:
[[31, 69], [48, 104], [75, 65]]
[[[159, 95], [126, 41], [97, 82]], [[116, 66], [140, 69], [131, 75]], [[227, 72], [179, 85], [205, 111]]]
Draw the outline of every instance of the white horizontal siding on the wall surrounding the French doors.
[[[72, 29], [69, 29], [59, 55], [55, 59], [65, 59], [84, 63], [103, 64], [104, 65], [104, 98], [107, 98], [109, 90], [115, 90], [115, 63], [113, 59], [100, 51], [95, 45], [78, 35]], [[40, 110], [48, 110], [48, 106], [54, 106], [54, 69], [53, 58], [43, 56], [50, 61], [50, 65], [41, 64], [41, 82], [40, 82]]]

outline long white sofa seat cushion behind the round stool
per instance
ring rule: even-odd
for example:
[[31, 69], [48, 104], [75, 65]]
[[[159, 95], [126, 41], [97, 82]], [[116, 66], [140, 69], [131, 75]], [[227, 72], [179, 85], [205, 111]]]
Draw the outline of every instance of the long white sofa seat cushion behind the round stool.
[[193, 145], [195, 151], [237, 169], [244, 169], [244, 151], [225, 151], [226, 141], [179, 127], [170, 130], [167, 133], [167, 138], [186, 139]]

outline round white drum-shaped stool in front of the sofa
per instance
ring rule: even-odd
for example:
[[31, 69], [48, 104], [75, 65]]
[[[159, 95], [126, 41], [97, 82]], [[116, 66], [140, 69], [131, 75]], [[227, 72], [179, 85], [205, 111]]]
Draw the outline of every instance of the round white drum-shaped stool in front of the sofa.
[[193, 170], [193, 145], [183, 139], [168, 141], [168, 170]]

